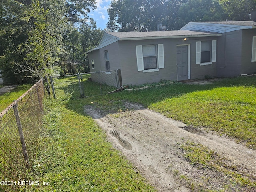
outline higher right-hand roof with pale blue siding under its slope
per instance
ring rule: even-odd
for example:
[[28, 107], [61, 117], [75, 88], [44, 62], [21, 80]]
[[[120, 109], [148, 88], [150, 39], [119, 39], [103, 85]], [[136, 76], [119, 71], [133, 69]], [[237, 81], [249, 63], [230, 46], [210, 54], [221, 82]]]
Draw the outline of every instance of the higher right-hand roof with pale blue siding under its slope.
[[189, 22], [180, 30], [198, 30], [225, 33], [241, 29], [254, 29], [256, 26], [253, 21], [209, 21], [209, 22]]

